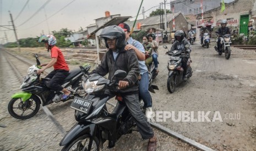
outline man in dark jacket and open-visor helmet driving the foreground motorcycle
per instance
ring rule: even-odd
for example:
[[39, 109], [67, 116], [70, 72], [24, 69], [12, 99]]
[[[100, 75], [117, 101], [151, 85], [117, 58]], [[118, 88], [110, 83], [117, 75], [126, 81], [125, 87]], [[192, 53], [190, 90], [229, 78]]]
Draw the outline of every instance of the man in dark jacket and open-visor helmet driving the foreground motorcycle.
[[[139, 62], [134, 50], [126, 51], [126, 34], [119, 26], [107, 26], [100, 34], [105, 39], [106, 47], [109, 49], [99, 66], [91, 73], [97, 73], [105, 76], [108, 73], [108, 79], [121, 69], [127, 72], [127, 76], [119, 80], [119, 94], [123, 102], [129, 109], [129, 112], [136, 120], [140, 135], [143, 139], [149, 139], [148, 150], [156, 150], [156, 137], [146, 120], [145, 115], [141, 112], [138, 94], [138, 78], [140, 74]], [[107, 94], [116, 94], [115, 91], [106, 91]]]

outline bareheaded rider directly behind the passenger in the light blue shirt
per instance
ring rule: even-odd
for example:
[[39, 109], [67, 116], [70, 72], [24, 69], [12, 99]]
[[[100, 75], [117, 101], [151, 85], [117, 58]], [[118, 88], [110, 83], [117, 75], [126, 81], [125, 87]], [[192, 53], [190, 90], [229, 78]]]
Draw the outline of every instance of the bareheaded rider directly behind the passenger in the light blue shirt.
[[151, 56], [151, 53], [152, 53], [152, 44], [149, 43], [149, 38], [144, 36], [143, 39], [143, 47], [145, 49], [145, 53], [146, 53], [146, 60], [145, 60], [145, 63], [146, 63], [146, 67], [148, 67], [148, 70], [149, 70], [149, 64], [153, 61], [152, 59], [152, 56]]

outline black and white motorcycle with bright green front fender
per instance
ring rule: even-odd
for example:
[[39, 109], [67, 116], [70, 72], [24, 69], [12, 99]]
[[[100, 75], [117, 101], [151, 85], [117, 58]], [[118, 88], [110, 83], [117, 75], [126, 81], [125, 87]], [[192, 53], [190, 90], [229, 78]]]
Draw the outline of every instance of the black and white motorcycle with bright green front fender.
[[[24, 77], [23, 83], [20, 86], [22, 92], [12, 95], [12, 100], [8, 104], [9, 114], [17, 119], [29, 119], [33, 117], [39, 111], [40, 104], [46, 106], [53, 102], [57, 103], [61, 101], [59, 97], [61, 92], [55, 92], [46, 86], [51, 79], [40, 78], [40, 74], [37, 74], [37, 70], [41, 67], [39, 66], [40, 61], [38, 55], [36, 54], [35, 57], [37, 64], [29, 67], [27, 75]], [[84, 94], [80, 84], [81, 77], [85, 71], [84, 69], [88, 70], [90, 66], [86, 65], [85, 68], [80, 66], [80, 68], [70, 71], [68, 77], [64, 79], [63, 88], [68, 89], [72, 93], [69, 99]]]

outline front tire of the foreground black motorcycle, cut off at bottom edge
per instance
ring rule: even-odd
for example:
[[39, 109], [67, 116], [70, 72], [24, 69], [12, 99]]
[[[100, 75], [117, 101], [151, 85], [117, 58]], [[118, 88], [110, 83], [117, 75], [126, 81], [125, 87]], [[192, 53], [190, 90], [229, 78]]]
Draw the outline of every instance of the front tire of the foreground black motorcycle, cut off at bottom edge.
[[[67, 144], [66, 146], [64, 146], [62, 148], [62, 151], [88, 150], [90, 138], [91, 137], [89, 134], [80, 136], [77, 139], [75, 139], [74, 141], [72, 141], [69, 144]], [[93, 138], [91, 150], [96, 150], [96, 151], [100, 150], [99, 140], [96, 137]]]

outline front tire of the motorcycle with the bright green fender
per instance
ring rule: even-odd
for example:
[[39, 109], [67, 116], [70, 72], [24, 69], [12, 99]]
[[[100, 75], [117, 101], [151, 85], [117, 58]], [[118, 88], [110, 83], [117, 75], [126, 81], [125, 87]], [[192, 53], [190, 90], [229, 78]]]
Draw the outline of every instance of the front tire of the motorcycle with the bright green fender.
[[[15, 105], [14, 107], [14, 103], [17, 101], [20, 101], [20, 102], [19, 104], [17, 104], [17, 106]], [[21, 98], [12, 98], [12, 100], [10, 100], [8, 104], [8, 112], [10, 115], [12, 115], [12, 117], [16, 119], [29, 119], [39, 111], [40, 103], [41, 102], [39, 98], [33, 95], [25, 102], [23, 102]], [[35, 108], [31, 109], [32, 106], [35, 106]], [[14, 109], [17, 109], [17, 111], [14, 111]], [[28, 111], [29, 109], [32, 112], [28, 115], [23, 115], [25, 111]], [[17, 113], [18, 111], [22, 111], [21, 115]]]

